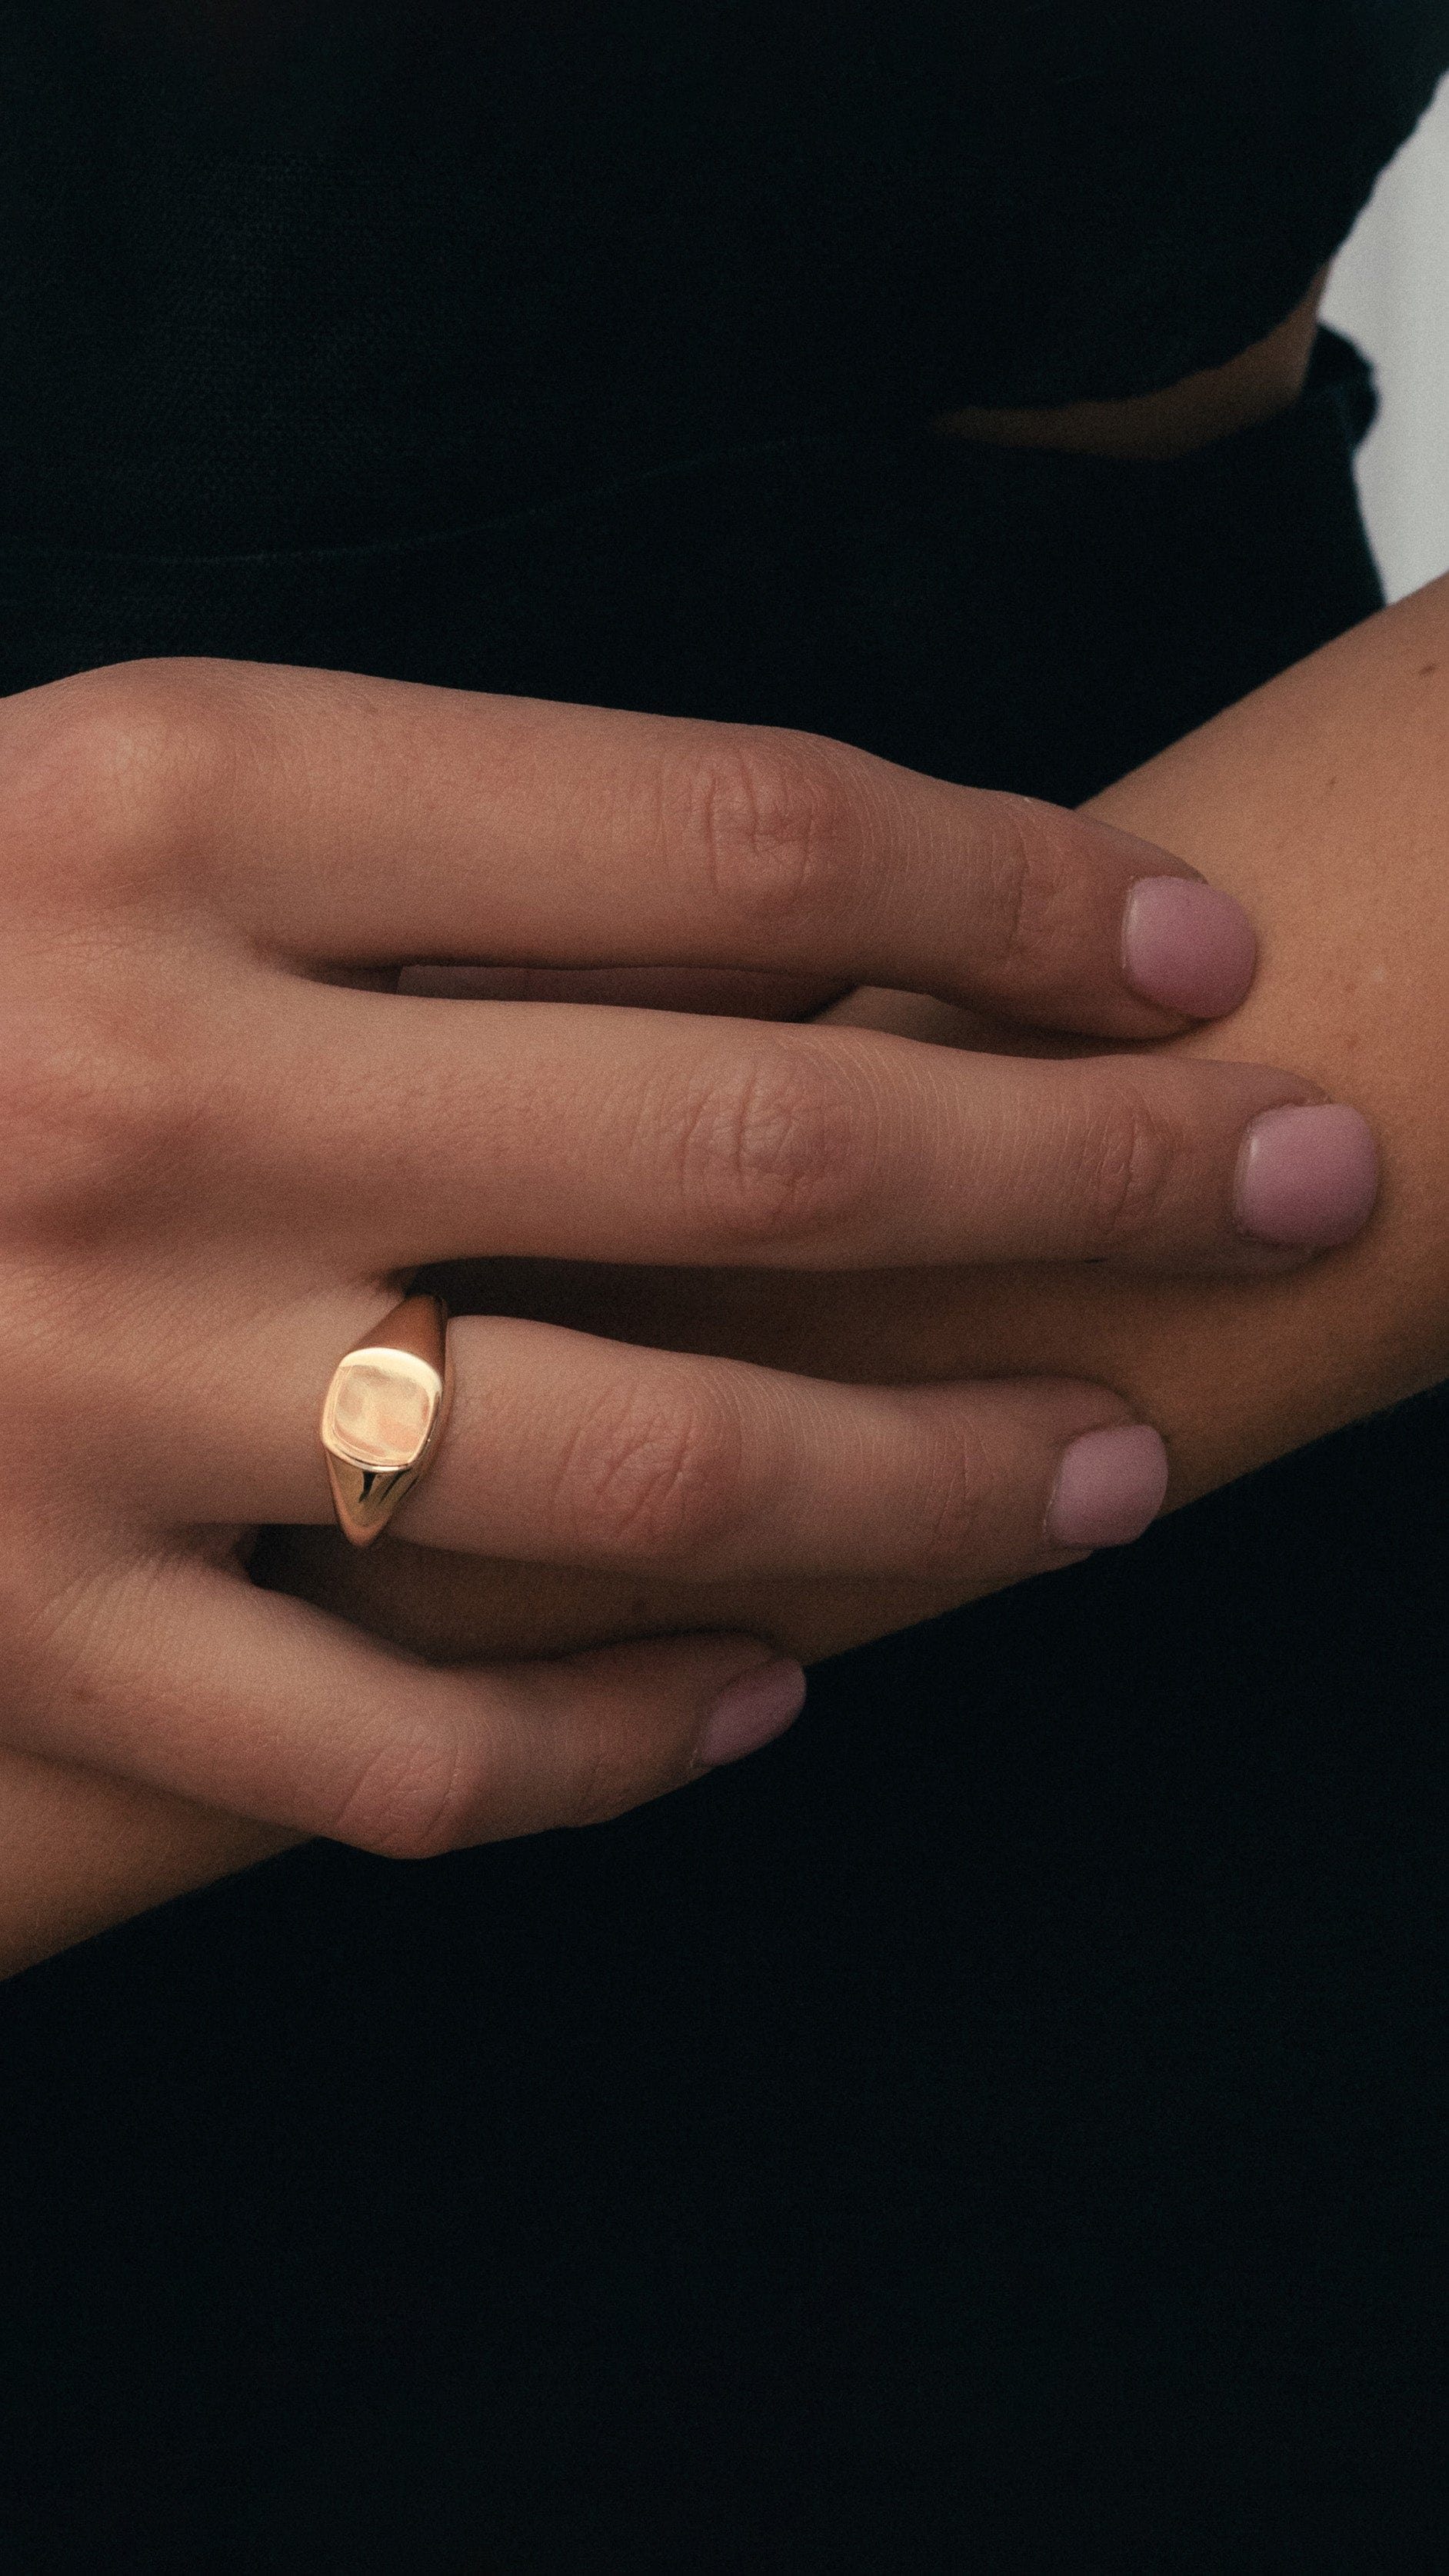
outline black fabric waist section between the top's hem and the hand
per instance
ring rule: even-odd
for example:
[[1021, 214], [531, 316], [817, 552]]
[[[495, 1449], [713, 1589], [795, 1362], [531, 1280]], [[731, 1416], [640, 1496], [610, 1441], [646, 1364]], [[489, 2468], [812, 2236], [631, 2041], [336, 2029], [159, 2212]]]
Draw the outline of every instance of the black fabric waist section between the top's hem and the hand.
[[800, 724], [1073, 804], [1380, 603], [1346, 471], [1369, 417], [1323, 332], [1292, 415], [1184, 464], [782, 440], [383, 546], [0, 549], [0, 685], [311, 662]]

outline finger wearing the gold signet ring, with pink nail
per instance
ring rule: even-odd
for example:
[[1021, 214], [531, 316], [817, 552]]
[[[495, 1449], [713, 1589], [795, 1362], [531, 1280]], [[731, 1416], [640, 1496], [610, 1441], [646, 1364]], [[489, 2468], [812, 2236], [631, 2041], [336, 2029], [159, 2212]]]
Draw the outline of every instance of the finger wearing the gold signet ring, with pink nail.
[[[1156, 1432], [1071, 1381], [836, 1386], [512, 1316], [458, 1316], [450, 1352], [448, 1430], [394, 1525], [474, 1556], [695, 1582], [1006, 1582], [1135, 1538], [1166, 1486]], [[221, 1373], [206, 1437], [193, 1422], [170, 1443], [162, 1515], [329, 1520], [317, 1417], [332, 1358], [299, 1345], [252, 1370], [270, 1391], [263, 1435], [257, 1404], [245, 1432], [226, 1425]]]

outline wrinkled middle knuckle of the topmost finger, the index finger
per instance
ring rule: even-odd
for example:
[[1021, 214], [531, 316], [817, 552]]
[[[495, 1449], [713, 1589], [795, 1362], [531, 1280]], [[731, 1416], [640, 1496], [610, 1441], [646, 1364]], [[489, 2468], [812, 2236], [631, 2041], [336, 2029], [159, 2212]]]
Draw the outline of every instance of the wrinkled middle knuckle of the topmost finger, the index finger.
[[808, 734], [723, 729], [695, 760], [679, 840], [728, 914], [780, 933], [839, 912], [857, 832], [839, 765]]

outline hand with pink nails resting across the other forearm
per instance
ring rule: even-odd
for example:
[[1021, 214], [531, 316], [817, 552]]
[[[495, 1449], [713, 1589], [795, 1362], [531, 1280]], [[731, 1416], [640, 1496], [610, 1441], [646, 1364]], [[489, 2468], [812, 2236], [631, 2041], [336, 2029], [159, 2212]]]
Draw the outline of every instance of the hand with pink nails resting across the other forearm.
[[[613, 1814], [788, 1718], [752, 1638], [438, 1672], [247, 1582], [260, 1522], [327, 1522], [322, 1388], [417, 1265], [1243, 1273], [1367, 1206], [1361, 1133], [1318, 1208], [1264, 1193], [1282, 1121], [1253, 1121], [1320, 1097], [1289, 1074], [396, 992], [420, 958], [726, 966], [1120, 1041], [1235, 999], [1235, 907], [1019, 799], [226, 665], [8, 701], [0, 765], [0, 1710], [39, 1754], [432, 1852]], [[443, 1548], [1004, 1582], [1161, 1484], [1150, 1435], [1091, 1445], [1130, 1427], [1094, 1386], [831, 1388], [499, 1319], [456, 1365], [399, 1515]]]

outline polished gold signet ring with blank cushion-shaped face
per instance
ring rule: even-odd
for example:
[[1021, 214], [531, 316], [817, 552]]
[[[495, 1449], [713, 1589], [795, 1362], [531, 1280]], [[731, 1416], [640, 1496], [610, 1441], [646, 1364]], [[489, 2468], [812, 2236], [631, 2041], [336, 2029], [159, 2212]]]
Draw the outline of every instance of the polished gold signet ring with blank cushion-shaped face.
[[322, 1448], [340, 1530], [355, 1548], [381, 1538], [438, 1455], [453, 1363], [440, 1296], [409, 1296], [342, 1352], [322, 1406]]

